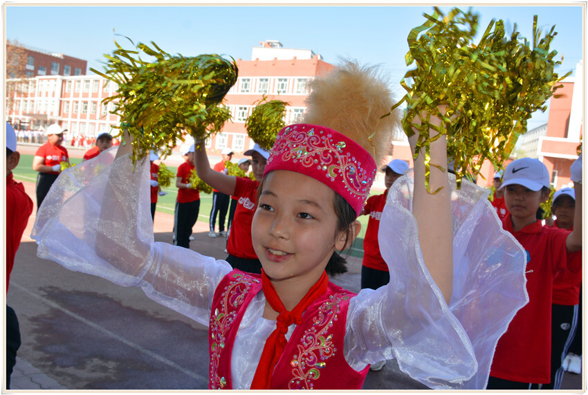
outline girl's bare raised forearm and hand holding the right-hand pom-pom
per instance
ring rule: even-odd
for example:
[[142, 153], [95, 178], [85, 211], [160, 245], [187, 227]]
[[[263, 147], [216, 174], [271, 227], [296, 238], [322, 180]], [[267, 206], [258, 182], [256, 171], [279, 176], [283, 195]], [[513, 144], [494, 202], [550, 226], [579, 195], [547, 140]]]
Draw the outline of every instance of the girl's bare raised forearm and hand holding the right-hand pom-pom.
[[[431, 116], [430, 122], [432, 125], [441, 125], [441, 120], [434, 116]], [[419, 125], [420, 120], [416, 120], [415, 124]], [[430, 129], [430, 136], [436, 135], [437, 131]], [[413, 152], [417, 137], [418, 134], [415, 134], [410, 138]], [[439, 187], [442, 189], [437, 194], [427, 192], [425, 155], [421, 150], [414, 160], [412, 212], [419, 227], [419, 244], [425, 265], [434, 282], [441, 289], [445, 302], [449, 303], [453, 284], [453, 232], [445, 135], [430, 143], [430, 163], [441, 165], [445, 170], [441, 171], [437, 167], [430, 166], [429, 190], [433, 192]]]

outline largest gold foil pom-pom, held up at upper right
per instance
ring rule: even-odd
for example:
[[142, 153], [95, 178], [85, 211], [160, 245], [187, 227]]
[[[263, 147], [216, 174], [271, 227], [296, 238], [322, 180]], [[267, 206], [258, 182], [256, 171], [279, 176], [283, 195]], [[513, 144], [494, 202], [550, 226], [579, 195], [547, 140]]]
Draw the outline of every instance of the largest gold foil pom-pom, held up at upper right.
[[[477, 44], [473, 42], [477, 15], [471, 10], [454, 8], [443, 15], [434, 8], [433, 15], [425, 14], [425, 18], [408, 35], [406, 63], [414, 62], [416, 68], [405, 74], [401, 85], [407, 94], [392, 109], [406, 102], [403, 129], [409, 137], [416, 127], [412, 121], [421, 111], [444, 120], [441, 128], [432, 127], [428, 120], [416, 127], [419, 138], [414, 158], [425, 149], [429, 190], [430, 166], [446, 165], [430, 163], [429, 129], [446, 134], [448, 158], [454, 160], [459, 187], [463, 176], [479, 175], [486, 158], [495, 169], [502, 168], [517, 138], [526, 131], [527, 120], [533, 112], [545, 111], [546, 100], [569, 73], [559, 77], [553, 71], [561, 64], [554, 60], [557, 51], [549, 49], [557, 33], [551, 28], [541, 38], [537, 16], [532, 42], [520, 39], [516, 25], [508, 36], [503, 21], [493, 20]], [[438, 109], [440, 104], [448, 105], [445, 116]]]

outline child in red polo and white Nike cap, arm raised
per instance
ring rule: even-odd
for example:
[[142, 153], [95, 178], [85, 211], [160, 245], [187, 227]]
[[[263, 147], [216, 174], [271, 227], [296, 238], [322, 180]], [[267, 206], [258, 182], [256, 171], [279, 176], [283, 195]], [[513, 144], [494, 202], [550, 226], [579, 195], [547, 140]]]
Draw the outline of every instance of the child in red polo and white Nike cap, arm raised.
[[[582, 156], [570, 169], [576, 199], [582, 201]], [[576, 208], [573, 230], [542, 226], [536, 219], [549, 197], [549, 172], [537, 159], [510, 163], [502, 181], [508, 214], [502, 226], [527, 252], [526, 288], [529, 304], [517, 312], [498, 341], [487, 389], [532, 389], [550, 382], [551, 301], [553, 278], [559, 270], [577, 273], [581, 261], [571, 252], [582, 249], [582, 209]]]

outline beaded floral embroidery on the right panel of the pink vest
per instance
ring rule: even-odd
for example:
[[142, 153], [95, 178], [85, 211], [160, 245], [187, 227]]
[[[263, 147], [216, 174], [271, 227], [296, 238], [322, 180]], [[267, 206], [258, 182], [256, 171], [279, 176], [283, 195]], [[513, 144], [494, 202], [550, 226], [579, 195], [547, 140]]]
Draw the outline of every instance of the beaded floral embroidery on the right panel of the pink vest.
[[338, 320], [340, 304], [349, 296], [330, 295], [329, 300], [319, 306], [313, 318], [313, 324], [304, 331], [297, 345], [298, 353], [290, 361], [293, 378], [288, 383], [289, 389], [313, 389], [313, 380], [317, 380], [320, 371], [327, 366], [325, 362], [334, 356], [337, 349], [333, 345], [333, 334], [329, 333], [333, 322]]

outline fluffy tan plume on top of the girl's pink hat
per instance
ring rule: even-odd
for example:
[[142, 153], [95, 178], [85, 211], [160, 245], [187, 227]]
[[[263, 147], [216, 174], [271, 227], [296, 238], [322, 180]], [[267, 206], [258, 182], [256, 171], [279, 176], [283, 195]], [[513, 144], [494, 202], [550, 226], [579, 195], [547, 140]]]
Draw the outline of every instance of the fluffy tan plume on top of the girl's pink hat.
[[390, 153], [394, 130], [400, 129], [401, 113], [390, 113], [392, 91], [378, 68], [344, 59], [334, 71], [312, 80], [309, 89], [302, 123], [344, 134], [380, 165], [383, 156]]

